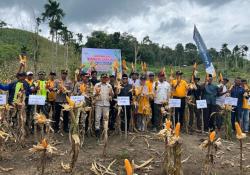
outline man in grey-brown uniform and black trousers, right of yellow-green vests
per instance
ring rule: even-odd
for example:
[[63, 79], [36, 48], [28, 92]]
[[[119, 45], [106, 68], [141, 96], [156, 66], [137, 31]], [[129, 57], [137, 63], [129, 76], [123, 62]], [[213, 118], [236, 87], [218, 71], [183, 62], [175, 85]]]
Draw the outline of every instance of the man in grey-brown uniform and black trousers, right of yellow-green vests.
[[[62, 104], [67, 103], [66, 95], [71, 94], [73, 91], [73, 84], [67, 79], [68, 71], [61, 70], [61, 79], [55, 81], [55, 88], [57, 90], [55, 100], [55, 115], [54, 115], [54, 130], [59, 131], [60, 115], [62, 111]], [[69, 132], [69, 111], [63, 111], [63, 130]]]

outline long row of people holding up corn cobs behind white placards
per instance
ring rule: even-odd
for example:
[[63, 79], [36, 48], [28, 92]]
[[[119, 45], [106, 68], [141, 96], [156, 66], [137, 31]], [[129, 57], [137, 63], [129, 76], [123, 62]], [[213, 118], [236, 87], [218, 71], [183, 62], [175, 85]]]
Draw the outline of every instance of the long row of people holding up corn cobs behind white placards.
[[[219, 83], [213, 82], [213, 76], [207, 75], [205, 82], [201, 83], [200, 78], [193, 76], [188, 83], [182, 78], [183, 73], [176, 71], [175, 76], [167, 80], [164, 71], [157, 75], [153, 72], [139, 74], [132, 72], [130, 75], [123, 73], [120, 78], [115, 75], [102, 73], [100, 80], [98, 72], [93, 70], [90, 74], [80, 70], [77, 78], [72, 81], [68, 78], [68, 71], [61, 70], [60, 76], [56, 79], [56, 72], [50, 72], [46, 78], [46, 72], [40, 71], [37, 80], [34, 80], [32, 72], [19, 72], [16, 80], [9, 84], [0, 84], [0, 90], [8, 91], [8, 103], [14, 104], [18, 93], [25, 94], [26, 126], [33, 131], [34, 110], [43, 113], [53, 122], [53, 129], [58, 132], [60, 129], [60, 116], [63, 115], [63, 130], [69, 132], [69, 112], [62, 111], [62, 104], [67, 103], [66, 96], [85, 96], [87, 106], [94, 108], [94, 128], [96, 137], [100, 137], [102, 117], [109, 116], [109, 129], [115, 129], [117, 122], [117, 97], [129, 96], [131, 105], [122, 107], [120, 113], [122, 130], [125, 129], [125, 110], [127, 114], [127, 126], [129, 130], [159, 131], [163, 128], [166, 116], [162, 114], [162, 107], [166, 106], [170, 98], [180, 99], [180, 107], [174, 108], [173, 119], [180, 122], [181, 126], [189, 126], [190, 131], [221, 129], [223, 117], [211, 117], [212, 113], [221, 110], [226, 96], [238, 99], [236, 106], [233, 106], [231, 122], [234, 129], [234, 122], [238, 121], [244, 132], [249, 131], [249, 86], [247, 81], [236, 78], [233, 85], [228, 87], [227, 78], [220, 79]], [[46, 104], [37, 106], [30, 105], [29, 95], [42, 95], [46, 98]], [[207, 108], [197, 109], [196, 100], [205, 99]], [[185, 121], [186, 109], [189, 113], [189, 121]], [[203, 110], [203, 116], [201, 115]], [[90, 115], [90, 114], [89, 114]], [[202, 122], [203, 119], [203, 122]], [[194, 126], [196, 120], [196, 127]], [[150, 128], [149, 128], [150, 126]]]

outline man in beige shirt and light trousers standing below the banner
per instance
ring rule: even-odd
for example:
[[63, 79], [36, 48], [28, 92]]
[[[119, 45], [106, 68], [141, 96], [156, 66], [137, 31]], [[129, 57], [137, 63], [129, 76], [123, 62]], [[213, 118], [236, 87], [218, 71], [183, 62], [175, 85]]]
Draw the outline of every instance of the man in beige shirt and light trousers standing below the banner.
[[112, 86], [108, 83], [108, 75], [101, 75], [101, 82], [94, 87], [95, 97], [95, 135], [100, 139], [101, 118], [104, 115], [109, 116], [110, 101], [114, 95]]

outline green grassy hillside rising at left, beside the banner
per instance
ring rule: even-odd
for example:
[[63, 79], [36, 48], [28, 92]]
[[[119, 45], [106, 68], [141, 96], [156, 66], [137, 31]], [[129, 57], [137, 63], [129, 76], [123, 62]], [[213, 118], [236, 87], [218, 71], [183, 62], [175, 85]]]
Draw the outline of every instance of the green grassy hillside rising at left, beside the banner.
[[[5, 78], [14, 75], [18, 68], [18, 55], [22, 47], [27, 48], [28, 53], [28, 70], [34, 71], [34, 49], [36, 35], [35, 33], [20, 29], [0, 29], [0, 69], [1, 77]], [[58, 45], [57, 55], [55, 53], [55, 43], [52, 44], [48, 39], [38, 36], [38, 60], [37, 72], [45, 70], [47, 72], [54, 70], [59, 72], [60, 69], [66, 68], [66, 47]], [[72, 49], [69, 49], [69, 66], [73, 63], [80, 62], [76, 60]]]

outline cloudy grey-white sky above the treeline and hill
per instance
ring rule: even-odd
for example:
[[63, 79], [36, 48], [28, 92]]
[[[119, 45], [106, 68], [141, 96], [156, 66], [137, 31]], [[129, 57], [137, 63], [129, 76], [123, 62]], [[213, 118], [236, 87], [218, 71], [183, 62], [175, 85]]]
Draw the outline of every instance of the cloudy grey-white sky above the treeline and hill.
[[[193, 41], [196, 24], [208, 48], [223, 43], [250, 46], [250, 0], [58, 0], [69, 30], [86, 38], [94, 30], [127, 32], [139, 41], [149, 36], [175, 47]], [[0, 20], [34, 31], [47, 0], [0, 0]], [[47, 24], [42, 35], [49, 37]]]

